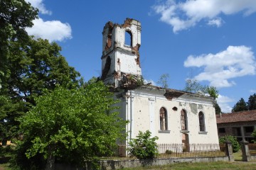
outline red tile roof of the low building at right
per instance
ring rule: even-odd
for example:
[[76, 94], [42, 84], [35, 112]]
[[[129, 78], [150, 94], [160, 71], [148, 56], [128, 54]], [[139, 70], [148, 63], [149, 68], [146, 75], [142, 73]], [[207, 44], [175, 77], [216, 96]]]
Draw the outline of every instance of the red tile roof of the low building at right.
[[235, 122], [246, 122], [256, 120], [256, 110], [252, 111], [240, 111], [234, 113], [223, 113], [216, 115], [218, 123], [235, 123]]

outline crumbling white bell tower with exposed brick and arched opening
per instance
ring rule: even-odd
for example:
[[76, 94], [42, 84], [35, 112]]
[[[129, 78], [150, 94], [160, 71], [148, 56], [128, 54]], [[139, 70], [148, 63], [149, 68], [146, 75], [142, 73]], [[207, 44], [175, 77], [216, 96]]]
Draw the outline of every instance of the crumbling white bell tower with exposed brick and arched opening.
[[[141, 23], [131, 18], [122, 25], [109, 21], [102, 35], [102, 81], [116, 88], [125, 86], [131, 79], [141, 79]], [[129, 44], [125, 38], [129, 38]]]

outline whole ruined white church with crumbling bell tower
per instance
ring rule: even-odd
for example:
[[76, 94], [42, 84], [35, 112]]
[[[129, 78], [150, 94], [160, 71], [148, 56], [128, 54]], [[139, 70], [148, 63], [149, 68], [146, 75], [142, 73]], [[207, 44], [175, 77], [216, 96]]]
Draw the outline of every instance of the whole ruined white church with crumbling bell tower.
[[[141, 23], [127, 18], [108, 22], [102, 35], [102, 81], [119, 98], [120, 117], [129, 120], [127, 142], [139, 130], [159, 137], [159, 144], [218, 145], [215, 101], [208, 96], [144, 84], [139, 61]], [[130, 44], [125, 44], [125, 34]], [[217, 148], [218, 149], [218, 148]]]

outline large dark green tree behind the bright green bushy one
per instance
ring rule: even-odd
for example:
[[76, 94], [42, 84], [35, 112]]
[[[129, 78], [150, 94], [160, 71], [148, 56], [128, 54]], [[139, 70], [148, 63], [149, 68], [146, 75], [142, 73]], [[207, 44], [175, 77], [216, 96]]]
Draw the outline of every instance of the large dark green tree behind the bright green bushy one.
[[[9, 72], [2, 83], [0, 94], [8, 96], [11, 106], [6, 116], [1, 118], [0, 130], [4, 136], [17, 135], [18, 117], [35, 105], [34, 98], [40, 96], [44, 89], [53, 90], [55, 86], [78, 86], [80, 74], [68, 65], [65, 57], [60, 55], [61, 47], [48, 40], [29, 38], [26, 44], [12, 41], [9, 45]], [[0, 106], [1, 110], [1, 106]]]

